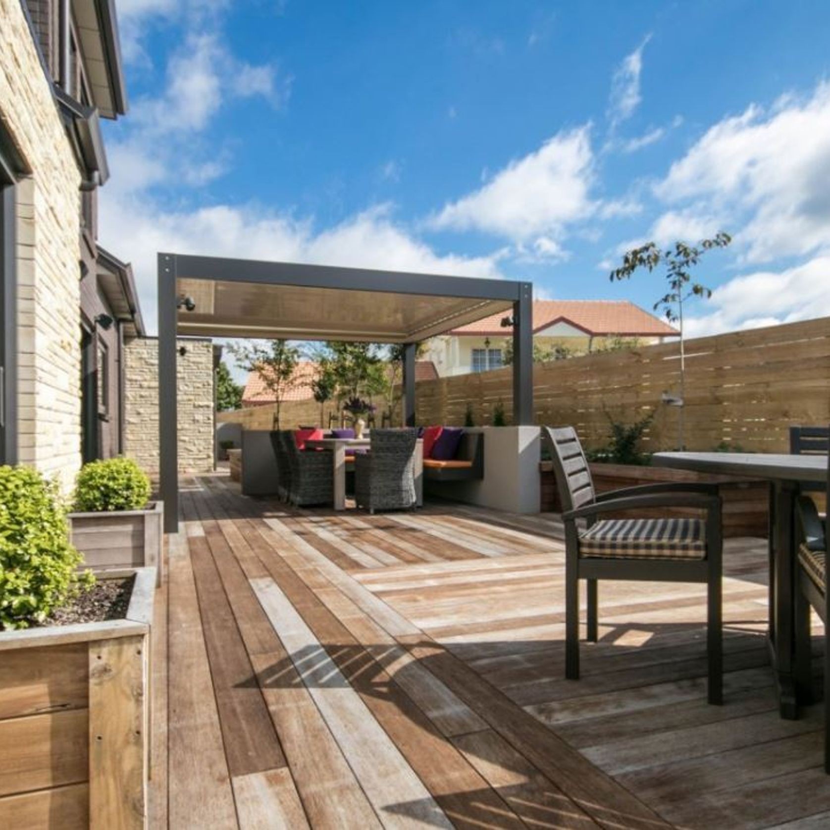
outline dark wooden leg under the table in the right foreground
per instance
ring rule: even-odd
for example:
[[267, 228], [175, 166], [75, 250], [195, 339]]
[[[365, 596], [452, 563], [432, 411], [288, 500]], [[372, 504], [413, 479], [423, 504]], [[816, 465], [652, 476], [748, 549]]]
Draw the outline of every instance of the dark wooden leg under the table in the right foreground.
[[795, 494], [798, 487], [791, 481], [775, 484], [775, 504], [770, 538], [772, 540], [772, 567], [769, 585], [771, 595], [769, 643], [773, 667], [778, 680], [779, 712], [781, 717], [794, 720], [798, 716], [798, 701], [794, 676], [795, 654]]

